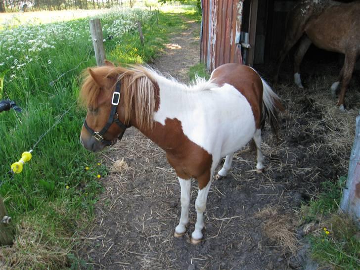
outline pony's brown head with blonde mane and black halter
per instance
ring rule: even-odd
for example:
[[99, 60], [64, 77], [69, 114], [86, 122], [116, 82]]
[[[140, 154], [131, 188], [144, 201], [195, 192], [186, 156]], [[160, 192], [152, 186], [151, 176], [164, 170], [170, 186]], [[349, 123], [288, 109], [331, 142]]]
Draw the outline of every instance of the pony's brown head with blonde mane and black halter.
[[88, 68], [80, 100], [88, 112], [80, 135], [83, 146], [100, 151], [121, 139], [134, 125], [151, 129], [155, 111], [156, 87], [151, 72], [143, 67], [105, 66]]

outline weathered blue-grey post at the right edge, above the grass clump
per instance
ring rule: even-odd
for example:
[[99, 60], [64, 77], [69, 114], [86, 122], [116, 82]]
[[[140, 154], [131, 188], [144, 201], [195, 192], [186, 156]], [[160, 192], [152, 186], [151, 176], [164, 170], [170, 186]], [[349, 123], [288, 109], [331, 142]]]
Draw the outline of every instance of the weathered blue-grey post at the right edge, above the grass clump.
[[340, 208], [360, 225], [360, 114], [356, 118], [356, 132], [351, 149], [348, 179], [343, 190]]

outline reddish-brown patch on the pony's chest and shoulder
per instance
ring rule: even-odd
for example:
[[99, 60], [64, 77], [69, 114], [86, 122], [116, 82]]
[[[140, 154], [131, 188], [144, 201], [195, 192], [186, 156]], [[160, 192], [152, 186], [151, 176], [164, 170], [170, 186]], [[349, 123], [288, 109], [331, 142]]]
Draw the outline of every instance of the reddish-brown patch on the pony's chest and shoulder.
[[[136, 127], [136, 123], [134, 126]], [[151, 131], [140, 131], [165, 150], [168, 162], [178, 177], [186, 180], [196, 179], [200, 189], [208, 184], [213, 157], [184, 135], [178, 119], [167, 118], [165, 125], [156, 122]]]

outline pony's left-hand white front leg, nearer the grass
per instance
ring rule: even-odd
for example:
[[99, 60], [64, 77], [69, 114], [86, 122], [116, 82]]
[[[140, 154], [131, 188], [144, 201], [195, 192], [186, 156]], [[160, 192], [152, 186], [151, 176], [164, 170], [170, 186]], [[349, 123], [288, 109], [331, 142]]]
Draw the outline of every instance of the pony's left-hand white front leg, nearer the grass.
[[191, 179], [184, 180], [179, 177], [181, 188], [181, 216], [179, 225], [175, 228], [175, 237], [180, 237], [186, 231], [186, 225], [189, 222], [189, 205], [190, 205], [190, 191], [191, 191]]

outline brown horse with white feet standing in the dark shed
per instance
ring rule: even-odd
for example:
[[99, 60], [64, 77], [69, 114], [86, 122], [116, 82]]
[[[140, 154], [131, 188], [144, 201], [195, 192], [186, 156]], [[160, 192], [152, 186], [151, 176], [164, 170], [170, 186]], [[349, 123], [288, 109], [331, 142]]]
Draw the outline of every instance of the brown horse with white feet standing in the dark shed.
[[333, 95], [342, 83], [337, 105], [345, 110], [345, 92], [349, 86], [357, 57], [360, 54], [360, 1], [341, 3], [331, 0], [301, 1], [290, 11], [286, 25], [285, 43], [277, 59], [274, 84], [286, 54], [301, 38], [294, 57], [294, 80], [303, 88], [300, 64], [309, 46], [345, 54], [339, 78], [330, 88]]

